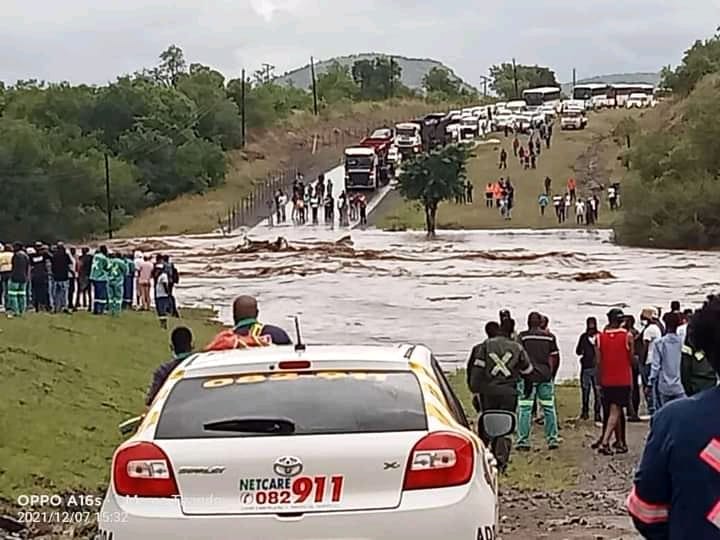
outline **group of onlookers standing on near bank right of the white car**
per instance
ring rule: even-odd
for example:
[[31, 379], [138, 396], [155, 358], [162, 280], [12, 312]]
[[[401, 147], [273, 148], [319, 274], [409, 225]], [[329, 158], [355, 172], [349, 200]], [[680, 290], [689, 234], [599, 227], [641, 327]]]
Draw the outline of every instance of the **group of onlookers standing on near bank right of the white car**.
[[[714, 369], [698, 353], [687, 333], [692, 310], [680, 310], [673, 302], [662, 318], [646, 308], [635, 317], [620, 309], [607, 314], [598, 326], [594, 317], [580, 335], [576, 353], [580, 359], [582, 410], [580, 419], [593, 419], [602, 431], [593, 448], [604, 455], [627, 453], [626, 422], [640, 422], [641, 398], [649, 416], [685, 396], [717, 384]], [[557, 448], [557, 412], [553, 382], [559, 368], [559, 348], [547, 317], [533, 312], [527, 329], [516, 333], [508, 311], [499, 321], [486, 325], [487, 339], [476, 345], [468, 360], [467, 383], [480, 409], [517, 411], [519, 450], [530, 447], [532, 409], [543, 411], [549, 448]], [[507, 464], [509, 449], [498, 459]]]

